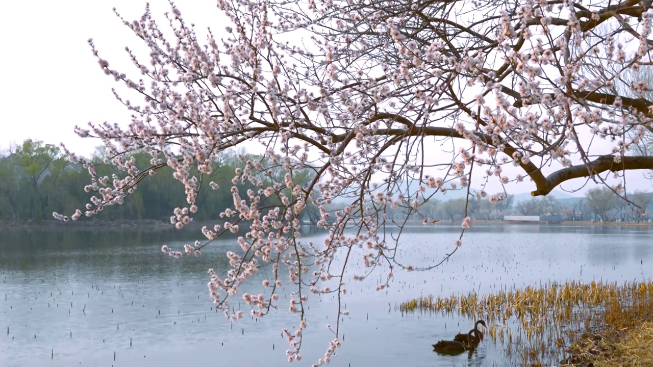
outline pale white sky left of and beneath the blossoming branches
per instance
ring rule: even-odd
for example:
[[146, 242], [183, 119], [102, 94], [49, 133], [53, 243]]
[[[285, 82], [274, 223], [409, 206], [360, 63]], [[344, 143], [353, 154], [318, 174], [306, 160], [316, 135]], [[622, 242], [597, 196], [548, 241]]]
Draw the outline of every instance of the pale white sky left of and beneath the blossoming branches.
[[[3, 13], [7, 16], [0, 22], [5, 50], [4, 56], [0, 57], [3, 80], [0, 100], [5, 115], [0, 148], [11, 142], [34, 138], [56, 145], [64, 142], [72, 151], [89, 155], [99, 145], [99, 140], [78, 137], [72, 131], [74, 125], [86, 127], [89, 121], [129, 121], [129, 112], [116, 101], [111, 91], [118, 84], [101, 71], [87, 40], [93, 38], [101, 57], [110, 62], [112, 69], [133, 70], [124, 48], [129, 46], [138, 54], [142, 42], [121, 23], [112, 8], [116, 7], [125, 20], [131, 21], [140, 18], [145, 5], [144, 0], [40, 0], [3, 4]], [[153, 16], [165, 26], [163, 13], [170, 10], [168, 2], [151, 0], [150, 6]], [[214, 33], [223, 31], [221, 13], [215, 7], [215, 1], [179, 2], [177, 6], [185, 21], [194, 23], [198, 31], [207, 26], [212, 27]], [[583, 140], [585, 138], [589, 136], [583, 136]], [[604, 148], [611, 146], [601, 145]], [[435, 149], [432, 157], [439, 155], [439, 150]], [[447, 161], [451, 157], [448, 153], [441, 154]], [[505, 172], [509, 177], [523, 173], [518, 168]], [[552, 170], [545, 173], [550, 172]], [[439, 176], [437, 172], [432, 174]], [[629, 190], [653, 189], [643, 174], [644, 171], [626, 174]], [[562, 189], [577, 189], [582, 183], [584, 180], [567, 182]], [[590, 183], [575, 195], [581, 195], [594, 186]], [[530, 182], [507, 187], [513, 193], [534, 188]], [[501, 187], [492, 180], [486, 189], [492, 193], [500, 191]]]

